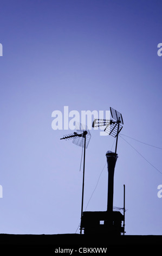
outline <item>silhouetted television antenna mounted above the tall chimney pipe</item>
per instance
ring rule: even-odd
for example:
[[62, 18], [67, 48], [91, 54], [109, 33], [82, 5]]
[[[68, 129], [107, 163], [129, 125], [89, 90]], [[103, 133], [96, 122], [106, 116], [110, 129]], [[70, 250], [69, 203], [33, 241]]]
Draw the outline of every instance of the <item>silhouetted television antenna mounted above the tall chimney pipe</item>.
[[92, 127], [106, 126], [104, 131], [109, 133], [109, 135], [113, 136], [114, 138], [116, 138], [116, 145], [115, 145], [115, 154], [116, 154], [117, 144], [118, 144], [118, 135], [124, 125], [124, 122], [123, 122], [121, 113], [119, 113], [112, 107], [110, 107], [110, 111], [111, 111], [112, 118], [114, 120], [94, 119]]

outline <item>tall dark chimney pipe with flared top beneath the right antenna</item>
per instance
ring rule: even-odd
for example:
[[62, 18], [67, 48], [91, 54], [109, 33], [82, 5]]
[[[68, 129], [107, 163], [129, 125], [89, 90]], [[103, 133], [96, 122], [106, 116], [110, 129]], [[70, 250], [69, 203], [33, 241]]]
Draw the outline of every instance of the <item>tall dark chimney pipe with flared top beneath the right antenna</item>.
[[107, 211], [109, 214], [113, 212], [113, 193], [114, 193], [114, 169], [118, 154], [107, 151], [107, 168], [108, 168], [108, 195], [107, 195]]

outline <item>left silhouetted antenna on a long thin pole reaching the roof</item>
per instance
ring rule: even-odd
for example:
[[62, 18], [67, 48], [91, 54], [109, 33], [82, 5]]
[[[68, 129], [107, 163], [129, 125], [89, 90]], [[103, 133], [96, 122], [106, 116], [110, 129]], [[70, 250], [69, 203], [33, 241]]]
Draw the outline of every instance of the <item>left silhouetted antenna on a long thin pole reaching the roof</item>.
[[[84, 147], [84, 161], [83, 161], [83, 183], [82, 183], [82, 204], [81, 204], [81, 223], [83, 216], [83, 198], [84, 198], [84, 186], [85, 186], [85, 157], [86, 157], [86, 148], [88, 147], [90, 141], [90, 132], [88, 130], [87, 125], [83, 125], [81, 123], [74, 122], [75, 129], [77, 132], [70, 133], [69, 135], [63, 136], [61, 139], [72, 139], [75, 145], [79, 147]], [[82, 234], [82, 227], [80, 225], [80, 234]]]

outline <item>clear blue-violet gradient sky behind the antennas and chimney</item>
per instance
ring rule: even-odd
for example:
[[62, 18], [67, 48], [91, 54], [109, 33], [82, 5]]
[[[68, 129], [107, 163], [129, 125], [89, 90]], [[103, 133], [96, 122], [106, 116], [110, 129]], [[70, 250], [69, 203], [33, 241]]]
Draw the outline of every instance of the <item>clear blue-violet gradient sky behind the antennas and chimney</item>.
[[[0, 233], [75, 233], [80, 223], [82, 149], [60, 141], [72, 131], [51, 128], [53, 111], [113, 107], [123, 135], [162, 148], [161, 9], [160, 0], [1, 0]], [[115, 147], [90, 133], [84, 210]], [[126, 234], [162, 235], [161, 149], [122, 138], [114, 205], [122, 208], [125, 184]], [[87, 211], [106, 210], [107, 175]]]

